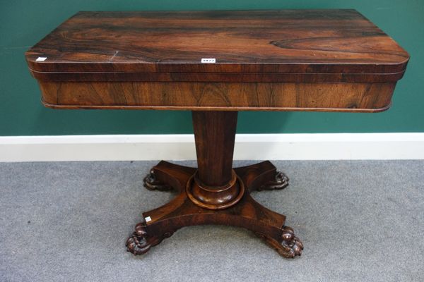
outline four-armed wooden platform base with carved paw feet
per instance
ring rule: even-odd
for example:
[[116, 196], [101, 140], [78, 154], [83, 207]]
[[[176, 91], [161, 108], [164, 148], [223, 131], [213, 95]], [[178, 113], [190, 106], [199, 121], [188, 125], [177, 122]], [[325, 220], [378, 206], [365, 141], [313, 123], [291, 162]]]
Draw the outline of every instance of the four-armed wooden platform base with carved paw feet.
[[[253, 231], [283, 257], [300, 255], [303, 245], [293, 229], [284, 225], [285, 216], [266, 209], [250, 196], [252, 190], [275, 184], [278, 174], [275, 166], [264, 161], [235, 168], [235, 172], [247, 188], [245, 194], [236, 205], [217, 211], [199, 207], [187, 197], [185, 188], [196, 168], [161, 161], [152, 168], [148, 179], [156, 184], [169, 185], [178, 194], [164, 206], [143, 213], [143, 221], [136, 225], [136, 231], [126, 241], [127, 250], [142, 255], [184, 226], [223, 224]], [[151, 183], [146, 184], [152, 187]]]

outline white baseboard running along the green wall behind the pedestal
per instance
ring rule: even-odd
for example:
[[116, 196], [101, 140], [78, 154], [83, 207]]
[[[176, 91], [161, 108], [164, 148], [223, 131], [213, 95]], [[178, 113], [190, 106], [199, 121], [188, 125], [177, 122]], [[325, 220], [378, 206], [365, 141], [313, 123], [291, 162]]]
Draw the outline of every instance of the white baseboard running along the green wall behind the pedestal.
[[[0, 137], [0, 161], [196, 159], [193, 135]], [[424, 159], [424, 133], [238, 134], [234, 159]]]

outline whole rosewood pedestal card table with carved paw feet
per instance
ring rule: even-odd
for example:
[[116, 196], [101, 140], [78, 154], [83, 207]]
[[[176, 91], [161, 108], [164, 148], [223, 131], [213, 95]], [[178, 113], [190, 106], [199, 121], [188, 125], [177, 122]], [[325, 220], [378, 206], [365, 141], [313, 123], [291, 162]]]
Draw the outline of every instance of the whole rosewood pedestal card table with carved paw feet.
[[184, 226], [224, 224], [283, 257], [302, 243], [250, 193], [288, 178], [269, 161], [232, 168], [237, 111], [384, 111], [409, 58], [355, 10], [80, 12], [25, 56], [54, 109], [192, 111], [198, 168], [151, 169], [146, 188], [178, 193], [143, 213], [129, 252]]

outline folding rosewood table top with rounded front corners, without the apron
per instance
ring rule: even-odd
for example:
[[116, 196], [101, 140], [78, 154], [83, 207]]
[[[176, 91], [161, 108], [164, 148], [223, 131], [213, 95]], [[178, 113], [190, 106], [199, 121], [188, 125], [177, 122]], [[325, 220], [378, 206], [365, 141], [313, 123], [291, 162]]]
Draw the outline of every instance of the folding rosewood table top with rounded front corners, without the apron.
[[79, 12], [26, 58], [52, 73], [387, 74], [409, 56], [358, 11], [283, 10]]

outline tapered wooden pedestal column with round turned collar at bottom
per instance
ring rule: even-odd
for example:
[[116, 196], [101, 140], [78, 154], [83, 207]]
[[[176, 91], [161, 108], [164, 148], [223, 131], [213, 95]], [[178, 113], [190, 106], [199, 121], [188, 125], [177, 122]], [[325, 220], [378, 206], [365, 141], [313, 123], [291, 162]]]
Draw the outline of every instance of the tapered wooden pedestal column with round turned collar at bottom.
[[197, 171], [187, 195], [206, 209], [227, 209], [242, 199], [245, 186], [232, 170], [237, 111], [193, 111]]

